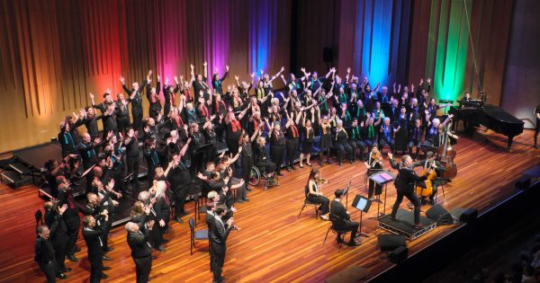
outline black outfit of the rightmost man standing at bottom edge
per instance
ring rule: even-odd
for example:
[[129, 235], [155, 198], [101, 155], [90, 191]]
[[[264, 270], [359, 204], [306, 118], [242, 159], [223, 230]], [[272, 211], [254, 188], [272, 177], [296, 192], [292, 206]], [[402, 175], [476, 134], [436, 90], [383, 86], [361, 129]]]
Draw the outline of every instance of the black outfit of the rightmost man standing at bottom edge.
[[225, 262], [225, 252], [227, 251], [227, 237], [229, 236], [230, 227], [225, 223], [221, 223], [218, 217], [215, 217], [214, 223], [209, 233], [212, 252], [214, 256], [214, 266], [212, 269], [214, 282], [222, 282], [221, 270]]

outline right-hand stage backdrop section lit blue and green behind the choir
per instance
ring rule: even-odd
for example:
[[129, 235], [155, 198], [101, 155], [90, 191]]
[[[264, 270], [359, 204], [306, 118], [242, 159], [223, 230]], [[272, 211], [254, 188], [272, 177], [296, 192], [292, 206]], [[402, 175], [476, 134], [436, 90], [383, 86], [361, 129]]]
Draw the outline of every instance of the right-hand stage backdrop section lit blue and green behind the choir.
[[[460, 99], [464, 92], [500, 104], [512, 0], [300, 1], [296, 19], [298, 66], [347, 66], [381, 82], [419, 84], [431, 77], [431, 94]], [[322, 7], [317, 9], [316, 7]], [[469, 36], [469, 28], [471, 36]], [[474, 57], [478, 75], [473, 72]], [[322, 49], [333, 50], [327, 64]]]

